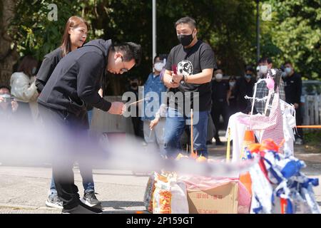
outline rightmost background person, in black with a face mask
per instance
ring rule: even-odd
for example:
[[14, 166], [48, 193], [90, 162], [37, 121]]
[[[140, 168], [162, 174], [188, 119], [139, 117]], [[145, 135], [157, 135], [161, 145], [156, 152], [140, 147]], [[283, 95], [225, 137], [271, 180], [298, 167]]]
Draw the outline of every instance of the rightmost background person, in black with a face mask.
[[[300, 98], [302, 94], [302, 79], [300, 73], [295, 72], [290, 61], [285, 62], [284, 90], [285, 102], [295, 106], [295, 120], [297, 125], [302, 125], [302, 112], [300, 108]], [[297, 128], [295, 135], [295, 144], [303, 144], [303, 130]]]

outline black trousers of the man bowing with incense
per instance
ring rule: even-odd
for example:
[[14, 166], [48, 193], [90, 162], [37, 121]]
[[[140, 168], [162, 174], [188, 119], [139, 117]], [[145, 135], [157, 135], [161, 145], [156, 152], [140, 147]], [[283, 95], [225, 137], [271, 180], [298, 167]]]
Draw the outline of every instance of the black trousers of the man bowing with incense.
[[78, 187], [74, 184], [73, 163], [81, 157], [81, 147], [86, 145], [88, 138], [86, 110], [76, 117], [66, 111], [39, 104], [39, 113], [49, 137], [58, 145], [58, 151], [52, 155], [52, 171], [58, 197], [63, 201], [63, 208], [71, 209], [80, 202]]

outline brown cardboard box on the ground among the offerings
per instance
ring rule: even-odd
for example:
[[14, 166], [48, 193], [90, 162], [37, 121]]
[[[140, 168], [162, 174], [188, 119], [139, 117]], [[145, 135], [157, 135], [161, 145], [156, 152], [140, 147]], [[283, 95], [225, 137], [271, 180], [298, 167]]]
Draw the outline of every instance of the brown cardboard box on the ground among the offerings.
[[190, 214], [238, 213], [238, 180], [207, 189], [188, 189], [187, 193]]

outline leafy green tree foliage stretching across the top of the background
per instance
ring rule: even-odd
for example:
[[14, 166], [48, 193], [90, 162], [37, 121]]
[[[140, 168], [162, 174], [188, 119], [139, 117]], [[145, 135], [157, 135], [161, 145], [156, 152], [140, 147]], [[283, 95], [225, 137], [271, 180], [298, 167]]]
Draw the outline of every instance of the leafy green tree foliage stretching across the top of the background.
[[[272, 6], [272, 21], [260, 21], [262, 56], [272, 57], [275, 66], [280, 66], [285, 59], [290, 60], [303, 76], [320, 78], [320, 1], [270, 0], [264, 3]], [[48, 19], [49, 4], [58, 7], [57, 21]], [[210, 43], [226, 74], [241, 75], [245, 63], [256, 62], [256, 1], [158, 0], [157, 6], [158, 53], [169, 53], [178, 44], [175, 21], [192, 16], [198, 22], [198, 38]], [[60, 44], [66, 20], [73, 15], [82, 16], [91, 24], [88, 40], [112, 38], [113, 41], [141, 43], [143, 61], [130, 74], [141, 79], [148, 76], [152, 70], [152, 1], [19, 0], [9, 32], [21, 56], [32, 54], [41, 61]], [[113, 83], [118, 81], [111, 93], [120, 94], [125, 77], [110, 77]]]

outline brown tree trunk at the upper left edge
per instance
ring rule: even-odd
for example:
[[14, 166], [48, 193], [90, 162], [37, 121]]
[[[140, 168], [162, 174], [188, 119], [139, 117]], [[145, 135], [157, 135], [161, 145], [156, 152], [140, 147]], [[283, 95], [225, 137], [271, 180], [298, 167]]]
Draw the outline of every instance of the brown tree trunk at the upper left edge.
[[14, 17], [16, 0], [0, 1], [0, 84], [9, 86], [13, 66], [19, 59], [16, 48], [11, 48], [12, 38], [7, 33]]

